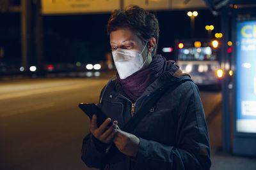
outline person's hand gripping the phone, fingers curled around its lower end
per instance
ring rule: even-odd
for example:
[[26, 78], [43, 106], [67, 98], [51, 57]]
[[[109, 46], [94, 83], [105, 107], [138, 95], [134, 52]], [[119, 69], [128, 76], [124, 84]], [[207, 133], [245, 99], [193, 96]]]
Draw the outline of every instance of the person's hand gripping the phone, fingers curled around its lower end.
[[90, 118], [89, 120], [91, 124], [90, 131], [93, 136], [99, 139], [102, 143], [111, 143], [117, 131], [117, 121], [115, 120], [111, 127], [108, 127], [109, 122], [111, 122], [111, 118], [107, 118], [98, 128], [96, 115], [93, 115], [92, 120]]

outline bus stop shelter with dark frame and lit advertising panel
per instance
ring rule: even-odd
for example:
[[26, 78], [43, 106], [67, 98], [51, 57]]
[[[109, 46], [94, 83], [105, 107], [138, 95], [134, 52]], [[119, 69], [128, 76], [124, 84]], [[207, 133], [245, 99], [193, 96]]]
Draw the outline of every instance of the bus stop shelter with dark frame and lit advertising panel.
[[256, 155], [256, 1], [205, 3], [221, 15], [223, 151]]

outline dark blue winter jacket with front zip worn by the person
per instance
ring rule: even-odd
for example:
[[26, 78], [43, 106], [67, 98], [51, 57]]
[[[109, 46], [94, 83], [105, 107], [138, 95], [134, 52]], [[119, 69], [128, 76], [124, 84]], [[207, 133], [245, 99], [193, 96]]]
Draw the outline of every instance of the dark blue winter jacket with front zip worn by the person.
[[[118, 120], [118, 126], [122, 129], [132, 118], [131, 111], [136, 115], [152, 94], [180, 78], [190, 80], [180, 70], [173, 75], [164, 72], [135, 103], [125, 96], [116, 79], [111, 80], [101, 92], [99, 106], [112, 120]], [[114, 155], [108, 155], [92, 134], [83, 140], [81, 157], [88, 167], [100, 169], [206, 170], [211, 167], [204, 108], [193, 81], [185, 81], [175, 89], [172, 86], [166, 89], [132, 134], [140, 138], [140, 150], [136, 158], [118, 150]]]

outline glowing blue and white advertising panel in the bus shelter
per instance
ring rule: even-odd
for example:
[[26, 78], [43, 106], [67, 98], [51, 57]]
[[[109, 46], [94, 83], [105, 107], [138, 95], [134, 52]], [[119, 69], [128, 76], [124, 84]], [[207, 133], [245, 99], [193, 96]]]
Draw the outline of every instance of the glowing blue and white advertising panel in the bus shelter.
[[236, 26], [236, 131], [256, 133], [256, 20]]

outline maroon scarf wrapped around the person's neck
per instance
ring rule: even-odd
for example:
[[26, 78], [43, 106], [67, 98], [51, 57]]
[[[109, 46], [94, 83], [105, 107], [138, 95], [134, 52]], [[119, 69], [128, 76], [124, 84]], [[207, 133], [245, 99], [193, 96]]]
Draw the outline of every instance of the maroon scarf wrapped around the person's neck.
[[164, 71], [170, 71], [170, 73], [173, 74], [178, 69], [179, 66], [175, 65], [173, 60], [166, 61], [163, 56], [156, 55], [145, 69], [141, 69], [125, 79], [120, 79], [118, 73], [116, 76], [118, 82], [122, 85], [125, 94], [127, 94], [133, 101], [136, 101], [136, 99], [143, 94], [145, 89]]

